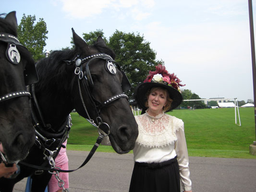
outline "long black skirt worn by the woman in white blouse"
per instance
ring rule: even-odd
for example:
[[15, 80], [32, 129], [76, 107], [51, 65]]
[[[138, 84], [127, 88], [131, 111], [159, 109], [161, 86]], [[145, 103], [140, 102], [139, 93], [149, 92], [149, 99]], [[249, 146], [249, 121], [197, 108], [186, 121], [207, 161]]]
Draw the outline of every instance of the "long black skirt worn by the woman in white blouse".
[[180, 192], [177, 157], [162, 163], [135, 162], [129, 192]]

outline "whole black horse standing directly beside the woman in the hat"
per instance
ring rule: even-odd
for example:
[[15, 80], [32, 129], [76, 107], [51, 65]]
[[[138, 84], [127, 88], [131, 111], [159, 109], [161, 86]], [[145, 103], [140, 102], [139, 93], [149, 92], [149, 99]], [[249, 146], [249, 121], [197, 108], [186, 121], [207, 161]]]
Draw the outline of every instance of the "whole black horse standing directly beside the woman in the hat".
[[[88, 46], [73, 31], [73, 42], [74, 49], [54, 51], [36, 65], [40, 81], [32, 86], [33, 106], [36, 106], [32, 107], [32, 119], [37, 140], [24, 160], [26, 163], [50, 167], [46, 152], [58, 153], [66, 139], [68, 117], [73, 109], [109, 134], [117, 153], [134, 148], [137, 124], [123, 94], [130, 84], [115, 63], [114, 52], [101, 37]], [[51, 177], [47, 171], [42, 173], [21, 164], [21, 173], [15, 179], [0, 180], [0, 191], [11, 192], [16, 182], [28, 176], [33, 180], [32, 192], [44, 192]]]

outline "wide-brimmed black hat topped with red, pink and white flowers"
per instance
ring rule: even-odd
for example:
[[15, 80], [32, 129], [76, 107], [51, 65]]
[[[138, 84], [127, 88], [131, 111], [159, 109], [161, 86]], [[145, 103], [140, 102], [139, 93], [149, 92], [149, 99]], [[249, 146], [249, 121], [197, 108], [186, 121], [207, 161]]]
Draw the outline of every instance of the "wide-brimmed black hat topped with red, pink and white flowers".
[[181, 80], [177, 78], [174, 73], [170, 74], [165, 66], [158, 65], [156, 66], [156, 71], [149, 71], [149, 75], [146, 77], [144, 83], [137, 86], [135, 91], [135, 99], [138, 105], [142, 108], [143, 111], [146, 111], [147, 107], [145, 103], [147, 101], [146, 93], [153, 87], [162, 87], [165, 88], [170, 98], [172, 99], [171, 107], [165, 112], [171, 111], [174, 108], [177, 108], [183, 101], [181, 94], [180, 84]]

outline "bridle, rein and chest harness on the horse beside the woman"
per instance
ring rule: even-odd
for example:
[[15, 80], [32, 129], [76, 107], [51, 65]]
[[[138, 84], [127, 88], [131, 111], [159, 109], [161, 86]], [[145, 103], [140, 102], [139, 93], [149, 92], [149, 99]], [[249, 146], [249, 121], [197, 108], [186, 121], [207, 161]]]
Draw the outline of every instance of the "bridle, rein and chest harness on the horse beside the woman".
[[[78, 75], [78, 78], [77, 78], [78, 82], [77, 83], [78, 83], [78, 88], [79, 88], [79, 95], [80, 95], [83, 107], [85, 109], [85, 113], [86, 113], [86, 115], [88, 117], [88, 119], [86, 119], [86, 120], [89, 121], [93, 126], [98, 128], [99, 136], [98, 136], [97, 141], [94, 144], [93, 148], [91, 149], [90, 153], [86, 157], [85, 161], [82, 163], [82, 165], [80, 167], [78, 167], [76, 169], [73, 169], [73, 170], [61, 170], [60, 168], [55, 167], [55, 161], [54, 161], [53, 157], [57, 154], [57, 151], [60, 150], [61, 144], [68, 137], [68, 132], [69, 132], [70, 127], [72, 125], [71, 118], [70, 118], [70, 124], [69, 124], [69, 126], [67, 126], [68, 127], [68, 131], [65, 133], [65, 135], [62, 136], [62, 139], [61, 139], [62, 143], [60, 143], [58, 145], [56, 150], [51, 151], [51, 150], [47, 149], [44, 146], [43, 142], [46, 143], [47, 141], [49, 141], [49, 140], [51, 141], [51, 140], [54, 140], [54, 139], [47, 139], [46, 137], [43, 136], [43, 134], [41, 134], [38, 131], [38, 128], [40, 129], [40, 127], [42, 127], [42, 125], [40, 125], [39, 121], [36, 119], [35, 111], [31, 110], [32, 111], [32, 120], [34, 122], [34, 126], [35, 126], [35, 129], [36, 129], [36, 143], [37, 143], [37, 146], [39, 148], [43, 148], [44, 155], [45, 155], [45, 157], [49, 161], [50, 168], [43, 167], [43, 166], [32, 165], [32, 164], [25, 163], [25, 162], [22, 162], [22, 161], [20, 161], [19, 164], [22, 164], [24, 166], [31, 167], [31, 168], [36, 168], [37, 169], [36, 172], [38, 172], [38, 173], [40, 173], [40, 172], [42, 173], [42, 170], [47, 170], [47, 171], [49, 171], [50, 174], [55, 174], [54, 172], [57, 172], [57, 173], [59, 173], [59, 172], [73, 172], [73, 171], [75, 171], [75, 170], [85, 166], [85, 164], [94, 155], [95, 151], [97, 150], [99, 144], [102, 142], [104, 137], [110, 134], [110, 126], [106, 122], [103, 122], [103, 120], [101, 119], [101, 117], [100, 117], [100, 109], [105, 107], [105, 106], [107, 106], [107, 105], [109, 105], [111, 102], [113, 102], [113, 101], [115, 101], [115, 100], [117, 100], [119, 98], [122, 98], [122, 97], [125, 97], [128, 100], [128, 96], [126, 96], [123, 93], [116, 94], [114, 96], [111, 96], [110, 98], [108, 98], [106, 101], [104, 101], [102, 103], [97, 101], [93, 97], [93, 95], [92, 95], [93, 81], [92, 81], [91, 75], [90, 75], [89, 64], [91, 63], [92, 60], [95, 60], [95, 59], [106, 60], [106, 70], [108, 70], [108, 72], [110, 72], [111, 74], [115, 75], [116, 69], [115, 69], [115, 66], [113, 65], [112, 62], [114, 62], [114, 63], [116, 63], [116, 62], [109, 55], [107, 55], [105, 53], [94, 54], [94, 55], [91, 55], [91, 56], [88, 56], [88, 57], [84, 58], [83, 60], [79, 59], [79, 56], [78, 56], [74, 60], [70, 60], [70, 61], [66, 60], [65, 61], [67, 63], [67, 65], [74, 65], [75, 66], [74, 73], [76, 75]], [[83, 63], [85, 63], [85, 71], [84, 72], [83, 72]], [[119, 64], [116, 63], [116, 65], [117, 65], [118, 70], [121, 71], [121, 68], [120, 68]], [[123, 74], [122, 89], [123, 89], [123, 92], [124, 92], [124, 91], [127, 91], [130, 88], [131, 84], [129, 83], [129, 80], [127, 79], [127, 77], [124, 74], [124, 72], [122, 72], [122, 74]], [[81, 84], [82, 84], [82, 86], [81, 86]], [[85, 96], [84, 97], [89, 99], [91, 105], [93, 106], [93, 109], [95, 110], [95, 112], [97, 114], [96, 122], [93, 119], [91, 119], [91, 117], [90, 117], [90, 115], [89, 115], [89, 113], [87, 111], [87, 108], [86, 108], [85, 102], [84, 102], [84, 97], [83, 97], [83, 94], [82, 94], [82, 88], [85, 91]], [[40, 111], [39, 105], [37, 104], [37, 99], [36, 99], [36, 96], [35, 96], [34, 85], [31, 86], [31, 93], [32, 93], [32, 100], [34, 101], [35, 107], [37, 108], [37, 114], [39, 114], [39, 117], [41, 119], [43, 127], [45, 129], [48, 129], [47, 124], [43, 120], [42, 113]], [[104, 133], [101, 133], [100, 130], [102, 130]]]

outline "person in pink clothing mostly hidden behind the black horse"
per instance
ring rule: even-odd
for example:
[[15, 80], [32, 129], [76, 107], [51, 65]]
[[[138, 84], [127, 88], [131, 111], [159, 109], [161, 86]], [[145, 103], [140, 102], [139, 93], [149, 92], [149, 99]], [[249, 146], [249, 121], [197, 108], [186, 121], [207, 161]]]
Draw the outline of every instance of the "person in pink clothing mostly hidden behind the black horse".
[[[64, 146], [67, 145], [67, 140], [63, 143]], [[68, 170], [68, 156], [66, 153], [66, 148], [61, 147], [60, 153], [55, 158], [55, 166], [63, 170]], [[64, 188], [69, 188], [69, 174], [60, 172], [60, 178], [64, 181]], [[62, 188], [58, 185], [58, 180], [55, 175], [51, 176], [48, 183], [48, 192], [62, 192]]]

